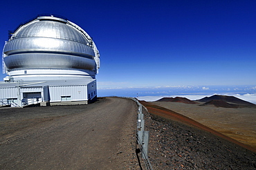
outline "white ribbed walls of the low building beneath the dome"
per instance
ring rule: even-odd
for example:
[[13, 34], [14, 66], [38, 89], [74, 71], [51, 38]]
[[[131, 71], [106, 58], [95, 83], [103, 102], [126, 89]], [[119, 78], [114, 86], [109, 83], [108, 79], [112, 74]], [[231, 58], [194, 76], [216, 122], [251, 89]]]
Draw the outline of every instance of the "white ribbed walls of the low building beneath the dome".
[[[77, 84], [80, 84], [77, 82]], [[84, 82], [84, 85], [48, 85], [48, 86], [15, 86], [1, 87], [0, 99], [22, 100], [39, 98], [44, 102], [91, 102], [97, 98], [96, 80]]]

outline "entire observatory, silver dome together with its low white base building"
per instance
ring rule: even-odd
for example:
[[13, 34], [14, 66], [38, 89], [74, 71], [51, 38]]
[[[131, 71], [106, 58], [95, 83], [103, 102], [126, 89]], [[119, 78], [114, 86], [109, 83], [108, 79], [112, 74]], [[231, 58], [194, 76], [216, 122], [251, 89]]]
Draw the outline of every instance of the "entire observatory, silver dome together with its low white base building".
[[0, 106], [87, 104], [97, 98], [100, 54], [91, 37], [61, 17], [25, 23], [3, 48]]

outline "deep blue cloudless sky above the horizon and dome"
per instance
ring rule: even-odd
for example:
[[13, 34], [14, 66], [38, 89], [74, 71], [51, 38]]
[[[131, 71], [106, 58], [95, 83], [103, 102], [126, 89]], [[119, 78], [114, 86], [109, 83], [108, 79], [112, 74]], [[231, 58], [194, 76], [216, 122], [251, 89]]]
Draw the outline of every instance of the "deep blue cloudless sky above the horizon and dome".
[[[8, 30], [62, 15], [100, 50], [99, 88], [256, 85], [256, 1], [1, 1]], [[2, 80], [5, 75], [0, 74]]]

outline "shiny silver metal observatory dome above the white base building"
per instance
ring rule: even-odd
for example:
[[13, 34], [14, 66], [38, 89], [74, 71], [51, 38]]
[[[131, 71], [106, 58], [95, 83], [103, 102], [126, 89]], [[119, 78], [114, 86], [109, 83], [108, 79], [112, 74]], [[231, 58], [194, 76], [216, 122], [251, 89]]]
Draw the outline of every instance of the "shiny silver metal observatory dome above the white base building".
[[14, 80], [95, 79], [100, 54], [75, 23], [43, 16], [15, 30], [3, 48], [3, 62]]

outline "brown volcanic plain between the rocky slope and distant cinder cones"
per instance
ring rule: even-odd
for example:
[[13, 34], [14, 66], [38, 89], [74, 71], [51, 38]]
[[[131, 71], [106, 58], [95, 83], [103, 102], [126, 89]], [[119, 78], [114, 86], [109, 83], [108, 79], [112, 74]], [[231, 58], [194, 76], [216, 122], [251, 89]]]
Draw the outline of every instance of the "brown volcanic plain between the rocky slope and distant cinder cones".
[[189, 117], [232, 139], [256, 149], [256, 107], [210, 100], [204, 104], [151, 102]]

